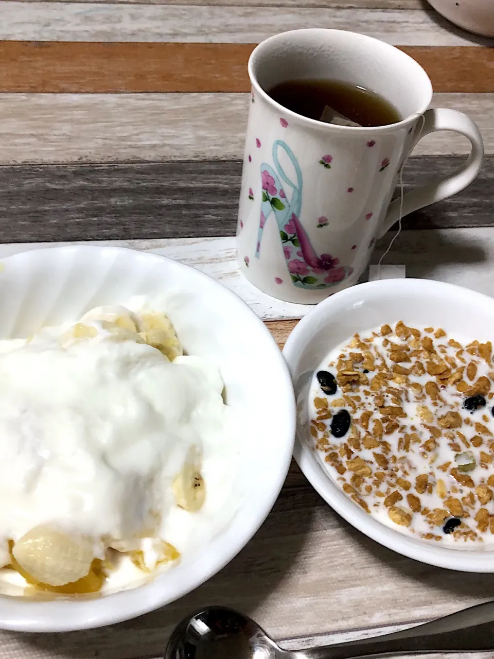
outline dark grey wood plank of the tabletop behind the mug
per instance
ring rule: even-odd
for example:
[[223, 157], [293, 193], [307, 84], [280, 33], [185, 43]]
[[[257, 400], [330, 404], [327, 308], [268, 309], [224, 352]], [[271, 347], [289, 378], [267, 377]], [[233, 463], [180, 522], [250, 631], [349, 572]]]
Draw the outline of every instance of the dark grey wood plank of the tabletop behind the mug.
[[[461, 158], [410, 158], [405, 191]], [[233, 236], [240, 161], [0, 167], [3, 242]], [[494, 223], [494, 157], [456, 196], [403, 221], [405, 229]]]

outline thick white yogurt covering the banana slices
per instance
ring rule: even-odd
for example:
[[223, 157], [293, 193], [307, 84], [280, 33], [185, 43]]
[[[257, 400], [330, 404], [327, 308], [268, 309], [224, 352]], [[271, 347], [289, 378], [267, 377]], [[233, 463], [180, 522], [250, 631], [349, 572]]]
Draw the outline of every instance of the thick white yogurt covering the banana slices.
[[[236, 509], [238, 445], [216, 366], [194, 356], [170, 362], [91, 318], [92, 339], [61, 341], [61, 326], [0, 341], [2, 565], [9, 540], [46, 523], [94, 538], [96, 558], [128, 541], [153, 567], [152, 542], [136, 538], [156, 516], [156, 536], [186, 554]], [[192, 445], [206, 483], [196, 513], [177, 507], [172, 488]]]

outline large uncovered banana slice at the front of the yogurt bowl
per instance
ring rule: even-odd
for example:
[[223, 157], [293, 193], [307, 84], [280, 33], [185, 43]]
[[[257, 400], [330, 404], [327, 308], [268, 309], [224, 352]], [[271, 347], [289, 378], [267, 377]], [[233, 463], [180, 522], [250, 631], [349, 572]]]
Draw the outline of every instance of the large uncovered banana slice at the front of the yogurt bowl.
[[59, 587], [90, 573], [93, 547], [91, 538], [73, 538], [55, 527], [40, 525], [17, 540], [12, 555], [30, 581]]

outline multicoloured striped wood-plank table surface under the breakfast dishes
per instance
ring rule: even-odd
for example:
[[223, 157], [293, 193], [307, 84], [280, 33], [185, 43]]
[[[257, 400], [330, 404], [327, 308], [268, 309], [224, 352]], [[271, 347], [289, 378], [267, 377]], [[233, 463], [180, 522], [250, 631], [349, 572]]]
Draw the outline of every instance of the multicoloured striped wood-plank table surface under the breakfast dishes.
[[[494, 295], [494, 42], [447, 24], [421, 0], [1, 2], [0, 258], [63, 241], [167, 254], [236, 291], [283, 345], [307, 308], [258, 293], [234, 262], [246, 62], [263, 38], [312, 26], [398, 45], [431, 76], [436, 107], [478, 123], [487, 155], [477, 181], [407, 217], [385, 262]], [[425, 138], [406, 187], [452, 169], [467, 148], [454, 134]], [[159, 656], [178, 619], [206, 604], [237, 607], [302, 648], [489, 598], [493, 577], [429, 567], [375, 544], [292, 465], [258, 534], [195, 592], [113, 627], [0, 633], [0, 658]]]

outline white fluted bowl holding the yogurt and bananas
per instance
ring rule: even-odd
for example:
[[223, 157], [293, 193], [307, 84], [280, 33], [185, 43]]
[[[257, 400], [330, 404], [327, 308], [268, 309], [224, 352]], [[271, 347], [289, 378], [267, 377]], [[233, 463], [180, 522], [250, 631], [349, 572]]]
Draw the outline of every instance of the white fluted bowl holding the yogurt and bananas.
[[173, 602], [209, 579], [244, 547], [271, 510], [287, 475], [295, 434], [290, 375], [275, 341], [234, 293], [193, 268], [128, 249], [68, 246], [5, 258], [0, 272], [0, 337], [77, 320], [94, 306], [134, 295], [166, 296], [184, 347], [221, 369], [239, 427], [240, 507], [196, 554], [134, 590], [97, 598], [30, 602], [0, 596], [0, 628], [69, 631], [108, 625]]

